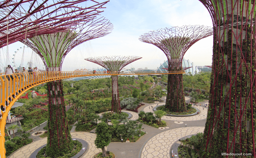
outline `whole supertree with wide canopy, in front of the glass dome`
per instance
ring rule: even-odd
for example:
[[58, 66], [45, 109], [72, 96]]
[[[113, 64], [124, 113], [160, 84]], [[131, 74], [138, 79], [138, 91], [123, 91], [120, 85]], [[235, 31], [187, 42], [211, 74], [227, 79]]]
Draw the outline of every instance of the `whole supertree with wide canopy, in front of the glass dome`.
[[[150, 31], [139, 40], [160, 48], [167, 56], [168, 71], [183, 70], [182, 59], [197, 41], [212, 35], [212, 28], [205, 26], [170, 27]], [[182, 74], [169, 74], [165, 107], [171, 112], [186, 110]]]

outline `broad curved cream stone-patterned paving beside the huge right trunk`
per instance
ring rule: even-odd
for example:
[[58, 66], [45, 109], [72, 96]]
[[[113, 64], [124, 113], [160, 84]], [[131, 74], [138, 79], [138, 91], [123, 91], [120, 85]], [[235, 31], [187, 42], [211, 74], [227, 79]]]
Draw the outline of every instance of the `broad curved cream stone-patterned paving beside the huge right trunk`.
[[161, 132], [146, 143], [141, 158], [170, 158], [170, 148], [174, 142], [203, 131], [204, 127], [184, 127]]

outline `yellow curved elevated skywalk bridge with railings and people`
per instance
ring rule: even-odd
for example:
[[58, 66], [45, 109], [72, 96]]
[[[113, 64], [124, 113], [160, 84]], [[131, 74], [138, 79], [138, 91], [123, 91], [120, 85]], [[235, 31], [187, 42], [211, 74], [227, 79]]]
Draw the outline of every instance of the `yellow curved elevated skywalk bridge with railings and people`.
[[8, 112], [14, 102], [26, 91], [34, 86], [53, 80], [61, 80], [73, 77], [103, 76], [103, 75], [160, 75], [160, 74], [181, 74], [185, 70], [170, 71], [166, 73], [156, 72], [26, 72], [11, 75], [0, 75], [0, 158], [5, 158], [5, 124]]

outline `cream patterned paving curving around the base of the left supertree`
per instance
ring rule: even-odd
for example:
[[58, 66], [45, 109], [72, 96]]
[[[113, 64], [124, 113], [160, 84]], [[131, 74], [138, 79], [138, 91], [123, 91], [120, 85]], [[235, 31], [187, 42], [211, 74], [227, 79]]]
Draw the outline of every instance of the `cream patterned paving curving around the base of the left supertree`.
[[[101, 152], [101, 149], [95, 147], [94, 140], [96, 139], [96, 134], [89, 132], [72, 132], [72, 138], [79, 138], [85, 140], [89, 144], [89, 148], [87, 153], [83, 155], [81, 158], [92, 158], [96, 153]], [[22, 148], [16, 150], [16, 152], [9, 156], [8, 158], [29, 158], [32, 152], [34, 152], [37, 148], [47, 143], [47, 138], [42, 140], [38, 140], [36, 142], [32, 142]]]

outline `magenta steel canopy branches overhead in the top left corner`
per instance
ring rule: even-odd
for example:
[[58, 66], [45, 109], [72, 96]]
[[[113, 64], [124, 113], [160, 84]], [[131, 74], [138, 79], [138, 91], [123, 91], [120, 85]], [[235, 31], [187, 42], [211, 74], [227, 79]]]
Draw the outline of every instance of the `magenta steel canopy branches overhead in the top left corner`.
[[[35, 35], [51, 34], [69, 29], [66, 22], [74, 17], [70, 8], [86, 0], [6, 0], [0, 3], [0, 47]], [[72, 10], [73, 11], [73, 10]], [[65, 24], [65, 25], [64, 25]]]

